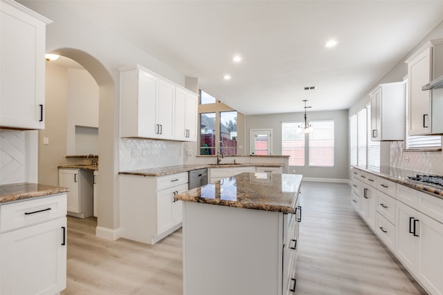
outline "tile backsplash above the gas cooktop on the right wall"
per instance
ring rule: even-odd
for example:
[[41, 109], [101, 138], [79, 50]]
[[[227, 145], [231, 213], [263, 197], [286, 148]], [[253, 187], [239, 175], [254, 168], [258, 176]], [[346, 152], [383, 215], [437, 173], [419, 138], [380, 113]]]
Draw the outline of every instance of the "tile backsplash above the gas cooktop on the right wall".
[[391, 142], [390, 166], [443, 175], [443, 153], [442, 151], [404, 151], [404, 142]]

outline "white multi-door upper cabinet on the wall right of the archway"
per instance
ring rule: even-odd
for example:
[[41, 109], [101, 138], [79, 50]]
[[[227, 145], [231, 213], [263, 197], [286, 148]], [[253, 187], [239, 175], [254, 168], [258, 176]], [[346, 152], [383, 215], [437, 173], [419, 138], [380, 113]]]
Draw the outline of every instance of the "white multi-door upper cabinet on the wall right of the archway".
[[120, 68], [120, 137], [197, 140], [197, 98], [140, 65]]

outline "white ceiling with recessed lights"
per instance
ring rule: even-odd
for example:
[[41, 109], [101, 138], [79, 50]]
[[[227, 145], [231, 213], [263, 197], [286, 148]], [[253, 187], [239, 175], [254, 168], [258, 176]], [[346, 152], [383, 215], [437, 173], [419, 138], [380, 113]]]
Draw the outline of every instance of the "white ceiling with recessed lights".
[[64, 2], [245, 115], [350, 108], [443, 20], [426, 0]]

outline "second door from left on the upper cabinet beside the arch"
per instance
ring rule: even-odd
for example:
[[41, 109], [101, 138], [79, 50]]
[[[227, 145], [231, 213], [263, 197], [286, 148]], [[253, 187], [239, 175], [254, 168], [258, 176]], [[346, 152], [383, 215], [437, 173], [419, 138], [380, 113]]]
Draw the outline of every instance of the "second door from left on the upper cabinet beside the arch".
[[156, 121], [158, 137], [164, 140], [174, 140], [174, 97], [175, 86], [160, 79]]

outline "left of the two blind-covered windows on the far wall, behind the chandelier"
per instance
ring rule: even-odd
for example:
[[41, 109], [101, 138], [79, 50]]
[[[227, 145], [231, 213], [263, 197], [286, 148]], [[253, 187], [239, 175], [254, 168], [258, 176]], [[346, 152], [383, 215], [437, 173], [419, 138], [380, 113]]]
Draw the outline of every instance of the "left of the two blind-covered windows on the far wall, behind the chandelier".
[[289, 155], [289, 166], [305, 166], [305, 133], [297, 133], [302, 122], [282, 122], [282, 155]]

